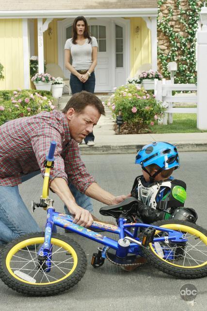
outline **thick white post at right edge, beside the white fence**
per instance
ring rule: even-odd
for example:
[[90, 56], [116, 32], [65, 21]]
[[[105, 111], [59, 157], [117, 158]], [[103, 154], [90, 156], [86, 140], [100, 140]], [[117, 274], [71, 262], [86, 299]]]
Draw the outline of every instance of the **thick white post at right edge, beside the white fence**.
[[197, 128], [207, 130], [207, 29], [197, 32]]

